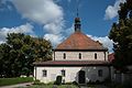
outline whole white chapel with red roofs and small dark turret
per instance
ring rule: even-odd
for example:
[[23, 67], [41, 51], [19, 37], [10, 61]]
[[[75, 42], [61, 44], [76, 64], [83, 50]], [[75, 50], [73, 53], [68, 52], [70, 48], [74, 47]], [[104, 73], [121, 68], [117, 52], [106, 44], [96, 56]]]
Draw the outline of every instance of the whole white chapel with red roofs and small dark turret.
[[42, 82], [103, 81], [110, 77], [108, 50], [81, 32], [80, 19], [75, 18], [75, 32], [53, 50], [53, 61], [34, 63], [34, 78]]

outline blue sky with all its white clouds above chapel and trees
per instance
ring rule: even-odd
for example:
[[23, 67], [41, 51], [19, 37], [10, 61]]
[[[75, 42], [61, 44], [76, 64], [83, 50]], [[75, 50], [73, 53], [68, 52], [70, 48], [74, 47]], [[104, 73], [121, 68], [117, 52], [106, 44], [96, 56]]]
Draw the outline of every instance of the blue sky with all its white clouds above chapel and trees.
[[111, 52], [108, 34], [118, 20], [120, 2], [124, 0], [0, 0], [0, 43], [8, 33], [20, 32], [56, 46], [74, 32], [78, 6], [81, 31]]

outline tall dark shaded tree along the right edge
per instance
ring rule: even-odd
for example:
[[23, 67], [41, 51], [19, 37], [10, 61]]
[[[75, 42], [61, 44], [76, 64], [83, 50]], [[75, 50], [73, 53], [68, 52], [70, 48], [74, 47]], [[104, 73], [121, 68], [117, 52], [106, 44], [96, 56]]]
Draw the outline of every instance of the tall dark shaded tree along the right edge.
[[124, 72], [132, 64], [132, 0], [120, 4], [119, 22], [113, 23], [109, 38], [114, 42], [113, 65]]

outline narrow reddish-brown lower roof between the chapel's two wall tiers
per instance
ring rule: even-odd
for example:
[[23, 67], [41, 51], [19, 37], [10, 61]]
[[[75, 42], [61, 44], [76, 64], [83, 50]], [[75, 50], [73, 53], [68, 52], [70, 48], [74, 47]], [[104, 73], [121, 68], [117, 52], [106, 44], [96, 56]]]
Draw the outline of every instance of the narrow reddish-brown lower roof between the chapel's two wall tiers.
[[110, 65], [106, 61], [48, 61], [34, 63], [36, 66], [92, 66], [92, 65]]

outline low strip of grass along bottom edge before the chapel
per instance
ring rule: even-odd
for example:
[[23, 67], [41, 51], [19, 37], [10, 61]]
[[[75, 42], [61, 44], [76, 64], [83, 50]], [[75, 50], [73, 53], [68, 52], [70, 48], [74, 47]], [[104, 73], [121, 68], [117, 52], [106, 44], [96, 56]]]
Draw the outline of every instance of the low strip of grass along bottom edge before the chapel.
[[[23, 87], [19, 87], [19, 88], [23, 88]], [[79, 88], [75, 85], [61, 85], [61, 86], [56, 86], [56, 85], [33, 85], [30, 87], [24, 87], [24, 88]]]

